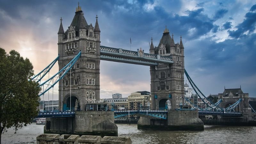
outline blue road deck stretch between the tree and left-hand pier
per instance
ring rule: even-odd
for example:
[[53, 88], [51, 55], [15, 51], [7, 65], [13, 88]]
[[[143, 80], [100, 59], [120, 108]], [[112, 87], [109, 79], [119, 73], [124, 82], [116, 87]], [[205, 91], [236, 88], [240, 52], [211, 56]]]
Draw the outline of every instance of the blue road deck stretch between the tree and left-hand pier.
[[75, 116], [74, 111], [62, 111], [62, 112], [40, 112], [38, 116], [35, 118], [40, 117], [73, 117]]

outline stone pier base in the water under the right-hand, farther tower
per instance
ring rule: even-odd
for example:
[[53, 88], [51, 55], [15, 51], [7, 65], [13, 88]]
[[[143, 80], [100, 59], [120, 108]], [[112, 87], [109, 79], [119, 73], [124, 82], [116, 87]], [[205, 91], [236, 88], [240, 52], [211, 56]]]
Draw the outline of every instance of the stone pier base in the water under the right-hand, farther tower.
[[169, 110], [167, 120], [140, 117], [138, 129], [163, 131], [204, 131], [204, 123], [198, 118], [198, 111]]

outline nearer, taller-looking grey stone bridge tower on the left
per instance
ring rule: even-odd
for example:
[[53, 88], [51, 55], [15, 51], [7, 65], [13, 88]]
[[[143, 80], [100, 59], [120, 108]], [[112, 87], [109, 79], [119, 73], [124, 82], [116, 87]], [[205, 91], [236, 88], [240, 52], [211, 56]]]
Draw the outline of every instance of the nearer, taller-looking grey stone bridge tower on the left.
[[62, 110], [69, 110], [70, 107], [71, 110], [75, 108], [84, 110], [86, 103], [100, 100], [100, 28], [98, 16], [96, 15], [95, 27], [92, 24], [88, 25], [84, 18], [84, 12], [78, 3], [75, 16], [66, 32], [64, 32], [62, 19], [60, 19], [58, 32], [59, 70], [80, 51], [79, 60], [59, 82], [59, 108]]

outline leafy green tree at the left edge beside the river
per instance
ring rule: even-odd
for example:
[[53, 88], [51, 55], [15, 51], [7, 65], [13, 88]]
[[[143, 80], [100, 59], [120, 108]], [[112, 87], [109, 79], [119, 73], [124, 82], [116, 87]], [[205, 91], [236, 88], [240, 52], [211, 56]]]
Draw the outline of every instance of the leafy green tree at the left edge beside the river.
[[24, 60], [14, 50], [6, 54], [0, 48], [0, 144], [7, 128], [14, 127], [16, 132], [38, 115], [41, 88], [38, 83], [28, 81], [33, 75], [28, 58]]

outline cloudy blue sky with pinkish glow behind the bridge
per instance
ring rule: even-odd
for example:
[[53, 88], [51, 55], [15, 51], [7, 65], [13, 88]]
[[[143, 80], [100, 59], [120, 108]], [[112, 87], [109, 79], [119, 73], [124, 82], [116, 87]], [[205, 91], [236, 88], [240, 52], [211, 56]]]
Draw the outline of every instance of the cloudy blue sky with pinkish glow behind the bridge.
[[[80, 0], [88, 24], [101, 30], [101, 45], [149, 52], [165, 26], [185, 47], [185, 68], [204, 95], [239, 88], [256, 97], [256, 1]], [[77, 1], [0, 0], [0, 47], [29, 58], [35, 73], [58, 55], [60, 17], [64, 30]], [[57, 66], [51, 74], [57, 72]], [[148, 66], [101, 61], [100, 97], [150, 91]], [[57, 95], [57, 87], [54, 95]], [[57, 99], [54, 98], [54, 99]]]

